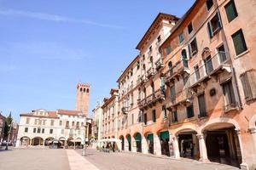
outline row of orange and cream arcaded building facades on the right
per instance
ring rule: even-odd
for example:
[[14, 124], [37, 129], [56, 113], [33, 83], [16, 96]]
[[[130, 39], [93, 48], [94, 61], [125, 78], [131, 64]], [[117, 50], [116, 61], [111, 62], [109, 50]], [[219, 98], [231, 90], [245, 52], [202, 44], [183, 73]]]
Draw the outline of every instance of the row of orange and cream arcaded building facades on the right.
[[[196, 0], [159, 14], [117, 81], [121, 149], [256, 167], [253, 0]], [[250, 11], [250, 12], [247, 12]]]

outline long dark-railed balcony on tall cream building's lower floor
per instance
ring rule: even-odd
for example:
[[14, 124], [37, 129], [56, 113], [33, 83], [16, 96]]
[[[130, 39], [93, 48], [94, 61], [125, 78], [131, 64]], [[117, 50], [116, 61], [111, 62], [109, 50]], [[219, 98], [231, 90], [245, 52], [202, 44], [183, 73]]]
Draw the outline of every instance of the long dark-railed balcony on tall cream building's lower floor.
[[142, 99], [138, 102], [138, 106], [140, 110], [147, 110], [148, 107], [152, 107], [156, 104], [156, 102], [162, 102], [165, 100], [165, 94], [163, 93], [162, 89], [158, 89], [153, 94], [150, 94], [145, 99]]

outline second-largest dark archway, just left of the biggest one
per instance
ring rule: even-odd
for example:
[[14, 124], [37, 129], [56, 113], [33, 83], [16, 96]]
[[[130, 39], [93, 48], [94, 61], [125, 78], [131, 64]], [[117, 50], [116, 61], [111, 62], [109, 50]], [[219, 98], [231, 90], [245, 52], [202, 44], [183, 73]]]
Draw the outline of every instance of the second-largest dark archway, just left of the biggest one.
[[197, 132], [191, 128], [184, 128], [176, 133], [181, 157], [199, 160], [199, 141], [196, 134]]

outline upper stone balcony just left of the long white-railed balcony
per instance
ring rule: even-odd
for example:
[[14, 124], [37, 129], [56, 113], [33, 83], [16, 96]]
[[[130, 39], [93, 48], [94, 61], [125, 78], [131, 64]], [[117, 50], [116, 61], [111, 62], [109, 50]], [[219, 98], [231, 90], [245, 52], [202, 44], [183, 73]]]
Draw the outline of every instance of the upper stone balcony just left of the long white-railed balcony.
[[[184, 66], [186, 65], [186, 66]], [[169, 71], [166, 72], [165, 82], [172, 82], [175, 78], [182, 76], [183, 73], [189, 74], [189, 68], [186, 61], [178, 61]]]

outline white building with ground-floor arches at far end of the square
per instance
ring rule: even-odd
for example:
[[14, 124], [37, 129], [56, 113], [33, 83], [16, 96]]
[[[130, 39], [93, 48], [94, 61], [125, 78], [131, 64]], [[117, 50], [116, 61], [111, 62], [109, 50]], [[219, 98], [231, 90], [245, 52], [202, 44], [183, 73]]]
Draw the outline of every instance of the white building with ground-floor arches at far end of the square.
[[48, 145], [53, 141], [61, 145], [79, 145], [84, 143], [85, 122], [89, 124], [90, 121], [82, 111], [40, 109], [20, 114], [16, 146]]

